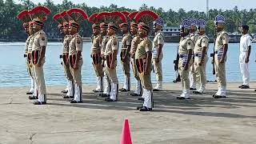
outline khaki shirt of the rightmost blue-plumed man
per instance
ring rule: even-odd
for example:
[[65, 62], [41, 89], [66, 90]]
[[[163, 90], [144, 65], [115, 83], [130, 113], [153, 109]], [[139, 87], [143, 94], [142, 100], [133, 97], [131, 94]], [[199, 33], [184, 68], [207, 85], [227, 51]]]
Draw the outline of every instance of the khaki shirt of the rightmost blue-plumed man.
[[226, 34], [226, 31], [222, 30], [218, 32], [218, 35], [215, 41], [214, 51], [218, 51], [222, 49], [223, 46], [228, 43], [229, 43], [229, 35]]

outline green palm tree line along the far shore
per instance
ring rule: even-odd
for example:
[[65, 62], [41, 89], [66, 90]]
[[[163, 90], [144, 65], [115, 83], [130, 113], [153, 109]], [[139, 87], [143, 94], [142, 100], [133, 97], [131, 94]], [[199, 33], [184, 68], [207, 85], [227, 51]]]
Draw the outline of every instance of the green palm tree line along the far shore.
[[[26, 34], [22, 28], [22, 22], [16, 18], [16, 15], [26, 9], [31, 9], [34, 6], [46, 6], [51, 10], [51, 14], [45, 24], [44, 30], [46, 34], [51, 34], [56, 37], [58, 35], [57, 22], [54, 22], [52, 18], [54, 14], [61, 12], [62, 10], [68, 10], [72, 7], [79, 7], [82, 10], [86, 10], [86, 13], [90, 16], [96, 12], [102, 11], [113, 11], [113, 10], [127, 10], [135, 11], [127, 7], [118, 7], [117, 5], [111, 4], [110, 6], [101, 7], [90, 7], [86, 5], [86, 2], [81, 4], [74, 4], [68, 0], [63, 0], [60, 4], [54, 4], [51, 0], [40, 2], [35, 4], [30, 0], [20, 0], [16, 3], [14, 0], [0, 0], [0, 38], [12, 41], [26, 39]], [[256, 32], [256, 9], [250, 10], [238, 10], [235, 6], [233, 10], [209, 10], [209, 13], [199, 12], [196, 10], [185, 11], [180, 8], [178, 11], [174, 10], [163, 10], [162, 8], [154, 8], [153, 6], [147, 6], [143, 4], [139, 10], [154, 10], [160, 17], [162, 17], [167, 26], [179, 26], [180, 22], [184, 18], [203, 18], [207, 22], [206, 34], [212, 36], [214, 34], [214, 17], [217, 14], [223, 14], [226, 17], [226, 30], [229, 32], [238, 31], [238, 26], [241, 24], [247, 24], [250, 26], [250, 33]], [[81, 25], [81, 34], [84, 37], [90, 37], [91, 35], [91, 23], [84, 22]]]

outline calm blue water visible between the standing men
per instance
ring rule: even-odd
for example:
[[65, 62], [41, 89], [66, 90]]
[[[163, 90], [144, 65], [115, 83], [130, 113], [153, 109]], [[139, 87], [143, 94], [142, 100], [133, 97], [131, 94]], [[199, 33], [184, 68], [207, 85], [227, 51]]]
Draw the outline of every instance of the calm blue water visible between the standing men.
[[[0, 42], [0, 86], [29, 86], [30, 78], [26, 72], [24, 54], [25, 42]], [[172, 82], [176, 77], [173, 61], [176, 58], [177, 43], [166, 43], [163, 49], [164, 58], [162, 60], [164, 82]], [[49, 42], [46, 48], [46, 63], [44, 66], [46, 85], [66, 85], [61, 59], [59, 54], [62, 52], [62, 44], [59, 42]], [[253, 44], [253, 48], [255, 44]], [[210, 45], [210, 52], [213, 50], [213, 44]], [[238, 64], [239, 45], [230, 44], [228, 52], [228, 62], [226, 65], [226, 75], [229, 82], [241, 81], [241, 74]], [[82, 82], [85, 84], [94, 84], [95, 76], [91, 65], [90, 58], [90, 43], [83, 44], [83, 66], [82, 66]], [[118, 58], [119, 60], [120, 58]], [[211, 58], [210, 58], [211, 60]], [[255, 51], [252, 50], [250, 57], [250, 76], [251, 80], [256, 79], [256, 66], [254, 63]], [[214, 80], [214, 75], [211, 74], [212, 65], [210, 61], [207, 63], [207, 79]], [[123, 82], [122, 67], [118, 61], [118, 80]], [[130, 71], [132, 74], [132, 71]], [[134, 82], [134, 78], [132, 77]], [[154, 75], [152, 81], [155, 82]]]

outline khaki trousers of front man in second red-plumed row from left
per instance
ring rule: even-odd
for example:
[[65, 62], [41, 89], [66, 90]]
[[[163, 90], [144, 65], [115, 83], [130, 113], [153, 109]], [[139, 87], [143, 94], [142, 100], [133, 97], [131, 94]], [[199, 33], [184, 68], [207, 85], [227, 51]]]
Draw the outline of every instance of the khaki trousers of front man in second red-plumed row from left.
[[82, 86], [82, 75], [81, 75], [81, 70], [82, 70], [82, 59], [79, 60], [78, 62], [78, 69], [74, 70], [70, 66], [70, 72], [72, 74], [72, 77], [74, 78], [74, 83], [77, 84], [77, 86]]

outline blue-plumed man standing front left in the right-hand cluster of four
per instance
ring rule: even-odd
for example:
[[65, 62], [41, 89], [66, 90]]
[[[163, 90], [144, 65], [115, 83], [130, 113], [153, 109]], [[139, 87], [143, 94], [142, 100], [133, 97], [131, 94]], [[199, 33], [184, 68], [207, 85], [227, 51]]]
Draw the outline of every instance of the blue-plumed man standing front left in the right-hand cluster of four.
[[190, 99], [190, 66], [193, 64], [192, 51], [194, 42], [190, 38], [190, 20], [184, 19], [181, 24], [181, 40], [179, 42], [178, 70], [182, 81], [182, 94], [178, 99]]

